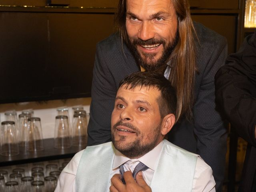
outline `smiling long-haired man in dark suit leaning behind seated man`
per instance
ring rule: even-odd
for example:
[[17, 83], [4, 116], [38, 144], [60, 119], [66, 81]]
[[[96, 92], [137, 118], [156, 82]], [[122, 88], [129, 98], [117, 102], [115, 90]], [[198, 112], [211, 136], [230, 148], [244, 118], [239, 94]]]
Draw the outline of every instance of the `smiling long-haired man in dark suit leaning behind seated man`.
[[227, 134], [214, 75], [226, 58], [225, 38], [193, 23], [187, 0], [120, 0], [115, 19], [119, 33], [97, 45], [88, 145], [111, 141], [110, 116], [124, 76], [157, 71], [177, 91], [177, 124], [168, 140], [200, 154], [221, 191]]

